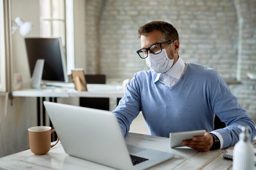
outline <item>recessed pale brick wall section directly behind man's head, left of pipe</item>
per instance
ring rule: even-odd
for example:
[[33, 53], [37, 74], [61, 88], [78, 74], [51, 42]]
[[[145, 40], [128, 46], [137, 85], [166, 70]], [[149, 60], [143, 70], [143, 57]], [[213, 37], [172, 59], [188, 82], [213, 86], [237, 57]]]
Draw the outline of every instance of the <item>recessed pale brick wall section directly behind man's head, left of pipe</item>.
[[107, 0], [100, 21], [102, 73], [132, 77], [147, 69], [136, 53], [140, 49], [137, 28], [152, 20], [164, 20], [176, 27], [184, 61], [235, 78], [238, 26], [233, 0]]

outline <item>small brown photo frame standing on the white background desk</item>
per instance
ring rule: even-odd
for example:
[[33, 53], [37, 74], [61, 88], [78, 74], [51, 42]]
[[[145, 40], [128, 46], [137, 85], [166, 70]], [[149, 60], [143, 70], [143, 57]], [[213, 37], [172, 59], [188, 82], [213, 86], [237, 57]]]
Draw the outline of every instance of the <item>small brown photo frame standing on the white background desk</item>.
[[76, 90], [77, 91], [87, 91], [83, 68], [74, 68], [71, 70], [71, 73], [72, 73], [72, 80], [75, 84]]

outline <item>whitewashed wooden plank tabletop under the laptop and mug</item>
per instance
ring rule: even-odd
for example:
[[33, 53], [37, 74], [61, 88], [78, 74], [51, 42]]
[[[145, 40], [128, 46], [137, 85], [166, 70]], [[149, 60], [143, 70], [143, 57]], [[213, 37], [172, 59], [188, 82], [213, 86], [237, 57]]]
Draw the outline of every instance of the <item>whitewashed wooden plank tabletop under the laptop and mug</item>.
[[[223, 158], [223, 150], [198, 152], [181, 147], [172, 149], [169, 138], [129, 133], [127, 144], [171, 152], [175, 157], [150, 168], [150, 170], [231, 170], [232, 161]], [[233, 149], [233, 147], [229, 147]], [[112, 168], [67, 155], [61, 144], [57, 144], [46, 155], [34, 155], [25, 150], [0, 158], [0, 169], [11, 170], [112, 170]]]

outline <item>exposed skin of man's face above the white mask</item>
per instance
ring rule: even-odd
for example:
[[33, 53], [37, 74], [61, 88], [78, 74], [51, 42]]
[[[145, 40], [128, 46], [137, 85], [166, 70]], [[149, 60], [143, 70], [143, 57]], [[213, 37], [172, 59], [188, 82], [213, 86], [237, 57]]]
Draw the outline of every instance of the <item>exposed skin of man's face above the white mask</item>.
[[[159, 42], [164, 42], [164, 41], [167, 41], [167, 40], [165, 40], [161, 31], [159, 31], [159, 30], [152, 31], [152, 32], [148, 33], [148, 35], [146, 35], [146, 36], [141, 35], [141, 37], [140, 37], [141, 49], [146, 49], [153, 44], [156, 44]], [[167, 51], [166, 51], [169, 59], [172, 59], [174, 56], [174, 53], [175, 53], [173, 50], [174, 49], [173, 44], [172, 45], [171, 44], [162, 44], [162, 49], [167, 49], [171, 45], [169, 47], [169, 49], [167, 49]], [[150, 50], [148, 51], [148, 53], [151, 53]]]

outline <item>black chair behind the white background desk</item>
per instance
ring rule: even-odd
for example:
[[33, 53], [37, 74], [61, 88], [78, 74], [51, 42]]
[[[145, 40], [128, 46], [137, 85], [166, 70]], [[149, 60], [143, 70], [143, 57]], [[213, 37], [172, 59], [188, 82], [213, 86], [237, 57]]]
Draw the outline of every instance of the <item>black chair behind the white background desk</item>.
[[[85, 81], [88, 84], [106, 84], [105, 75], [85, 75]], [[109, 98], [100, 97], [80, 97], [80, 106], [109, 110]]]

